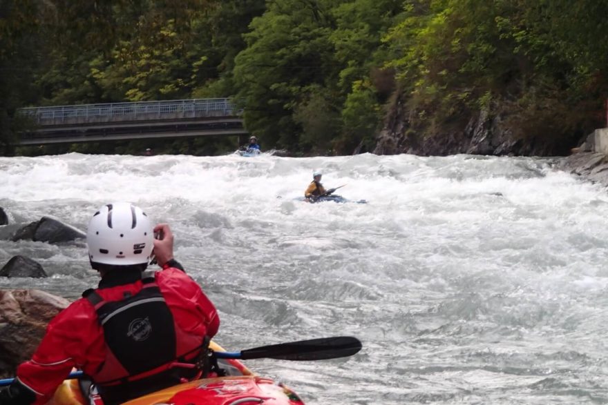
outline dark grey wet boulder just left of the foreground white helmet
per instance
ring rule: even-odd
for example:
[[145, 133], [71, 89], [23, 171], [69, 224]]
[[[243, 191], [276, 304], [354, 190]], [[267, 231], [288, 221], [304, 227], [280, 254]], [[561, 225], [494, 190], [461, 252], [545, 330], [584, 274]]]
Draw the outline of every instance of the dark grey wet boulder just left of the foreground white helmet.
[[84, 238], [86, 238], [86, 233], [82, 230], [64, 224], [55, 217], [42, 217], [39, 221], [17, 230], [11, 240], [32, 240], [55, 244]]

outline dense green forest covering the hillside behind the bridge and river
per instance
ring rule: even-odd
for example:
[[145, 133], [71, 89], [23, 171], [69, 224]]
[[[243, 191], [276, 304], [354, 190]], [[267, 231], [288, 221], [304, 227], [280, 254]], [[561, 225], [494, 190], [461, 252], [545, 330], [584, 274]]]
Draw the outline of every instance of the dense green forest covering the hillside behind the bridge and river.
[[[606, 0], [0, 0], [0, 152], [35, 153], [10, 146], [25, 106], [231, 97], [265, 148], [294, 155], [379, 150], [382, 130], [401, 139], [384, 152], [432, 153], [415, 146], [459, 142], [472, 123], [520, 145], [481, 152], [559, 154], [605, 125], [606, 10]], [[212, 154], [236, 143], [157, 146]]]

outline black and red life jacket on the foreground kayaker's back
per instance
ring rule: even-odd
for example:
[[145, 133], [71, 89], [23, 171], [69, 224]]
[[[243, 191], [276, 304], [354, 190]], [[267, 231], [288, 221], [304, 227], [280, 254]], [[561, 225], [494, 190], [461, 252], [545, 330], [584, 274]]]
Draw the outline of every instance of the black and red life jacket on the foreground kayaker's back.
[[180, 382], [180, 371], [169, 368], [177, 359], [173, 315], [155, 279], [142, 282], [140, 292], [120, 301], [106, 302], [93, 289], [83, 293], [104, 330], [106, 359], [91, 378], [106, 405]]

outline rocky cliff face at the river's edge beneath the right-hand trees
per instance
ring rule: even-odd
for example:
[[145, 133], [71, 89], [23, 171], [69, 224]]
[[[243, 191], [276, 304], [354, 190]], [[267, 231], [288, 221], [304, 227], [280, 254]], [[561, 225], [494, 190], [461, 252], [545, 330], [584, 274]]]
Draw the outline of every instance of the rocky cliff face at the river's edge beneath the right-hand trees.
[[475, 113], [466, 124], [445, 125], [436, 135], [424, 136], [410, 125], [403, 104], [403, 99], [398, 99], [390, 111], [377, 137], [375, 154], [554, 156], [565, 155], [569, 150], [559, 150], [548, 141], [519, 138], [509, 128], [512, 123], [500, 115], [489, 117], [483, 111]]

